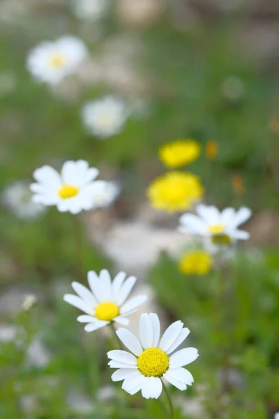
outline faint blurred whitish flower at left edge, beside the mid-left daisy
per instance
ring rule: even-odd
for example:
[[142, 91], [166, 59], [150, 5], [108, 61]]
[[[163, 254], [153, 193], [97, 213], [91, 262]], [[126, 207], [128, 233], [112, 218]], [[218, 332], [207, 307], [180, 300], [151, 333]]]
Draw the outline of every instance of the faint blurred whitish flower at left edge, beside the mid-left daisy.
[[29, 183], [18, 181], [8, 186], [2, 194], [2, 202], [19, 219], [36, 219], [45, 207], [34, 203]]

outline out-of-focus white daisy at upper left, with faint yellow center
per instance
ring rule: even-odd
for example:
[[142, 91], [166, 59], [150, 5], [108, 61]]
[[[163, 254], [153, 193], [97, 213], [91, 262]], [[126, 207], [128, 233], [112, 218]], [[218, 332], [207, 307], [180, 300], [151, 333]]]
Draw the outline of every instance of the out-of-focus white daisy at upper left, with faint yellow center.
[[33, 48], [27, 56], [27, 69], [38, 81], [57, 84], [73, 73], [86, 55], [86, 46], [80, 39], [63, 36]]

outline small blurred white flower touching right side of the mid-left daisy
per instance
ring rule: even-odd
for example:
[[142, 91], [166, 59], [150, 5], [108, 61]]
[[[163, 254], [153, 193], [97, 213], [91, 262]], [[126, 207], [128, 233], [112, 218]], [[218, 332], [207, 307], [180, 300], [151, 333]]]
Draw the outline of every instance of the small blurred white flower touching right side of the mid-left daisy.
[[119, 186], [116, 183], [96, 180], [93, 189], [93, 208], [108, 207], [118, 195]]

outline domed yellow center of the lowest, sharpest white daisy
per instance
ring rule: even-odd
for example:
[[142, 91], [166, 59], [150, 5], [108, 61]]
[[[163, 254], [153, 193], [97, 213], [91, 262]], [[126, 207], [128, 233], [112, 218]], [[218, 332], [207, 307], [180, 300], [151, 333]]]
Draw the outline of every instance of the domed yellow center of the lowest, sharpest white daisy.
[[169, 357], [159, 348], [148, 348], [137, 358], [137, 367], [146, 377], [161, 377], [169, 368]]

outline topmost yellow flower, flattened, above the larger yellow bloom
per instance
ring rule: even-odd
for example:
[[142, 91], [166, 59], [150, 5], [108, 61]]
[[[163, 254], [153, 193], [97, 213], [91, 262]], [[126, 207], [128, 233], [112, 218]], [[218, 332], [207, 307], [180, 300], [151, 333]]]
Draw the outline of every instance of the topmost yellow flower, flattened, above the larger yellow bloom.
[[192, 138], [176, 140], [160, 147], [158, 154], [167, 168], [181, 168], [197, 160], [201, 154], [201, 146]]

